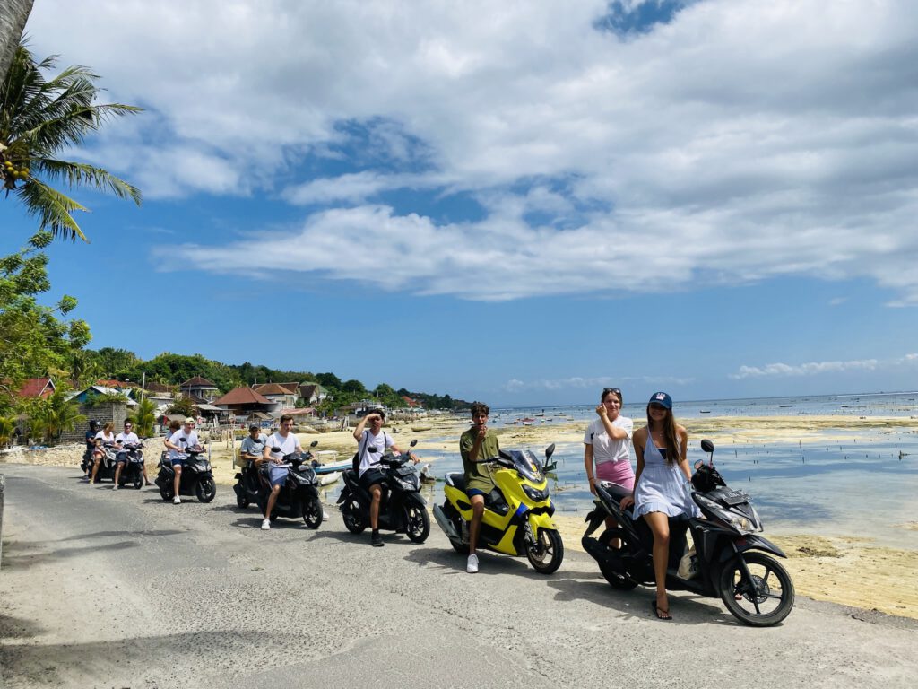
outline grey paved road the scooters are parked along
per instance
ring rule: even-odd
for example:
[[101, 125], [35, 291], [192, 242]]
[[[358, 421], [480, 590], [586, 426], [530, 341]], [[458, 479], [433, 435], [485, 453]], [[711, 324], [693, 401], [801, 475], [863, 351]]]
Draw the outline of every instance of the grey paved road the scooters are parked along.
[[914, 687], [918, 626], [799, 600], [784, 625], [719, 601], [620, 593], [569, 553], [553, 576], [485, 554], [465, 574], [436, 524], [425, 544], [263, 533], [210, 504], [3, 465], [0, 677], [17, 687]]

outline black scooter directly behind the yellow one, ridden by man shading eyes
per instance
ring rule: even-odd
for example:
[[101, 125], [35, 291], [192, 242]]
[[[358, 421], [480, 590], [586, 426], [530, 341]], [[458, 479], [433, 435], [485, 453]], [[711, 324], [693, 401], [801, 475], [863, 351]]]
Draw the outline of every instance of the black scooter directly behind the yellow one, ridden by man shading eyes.
[[[411, 441], [411, 447], [418, 444]], [[375, 446], [369, 446], [368, 452], [378, 452]], [[404, 532], [414, 543], [423, 543], [431, 534], [431, 515], [427, 512], [427, 502], [420, 494], [420, 477], [413, 466], [405, 466], [413, 460], [410, 452], [394, 456], [386, 453], [379, 463], [386, 480], [383, 483], [383, 494], [379, 503], [379, 529]], [[338, 496], [344, 526], [352, 534], [363, 533], [370, 525], [370, 503], [373, 498], [360, 483], [357, 469], [345, 469], [344, 488]]]

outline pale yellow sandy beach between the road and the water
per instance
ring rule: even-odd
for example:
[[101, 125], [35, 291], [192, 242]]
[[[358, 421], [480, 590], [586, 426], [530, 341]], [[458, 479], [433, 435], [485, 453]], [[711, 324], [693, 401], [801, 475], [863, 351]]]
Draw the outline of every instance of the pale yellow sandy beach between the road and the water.
[[[856, 442], [868, 431], [883, 429], [899, 432], [918, 432], [918, 419], [903, 417], [859, 418], [855, 416], [769, 416], [769, 417], [718, 417], [687, 419], [683, 424], [689, 430], [692, 443], [708, 437], [719, 446], [732, 444], [760, 444], [794, 442], [800, 446], [824, 442], [822, 433], [833, 432], [837, 442]], [[418, 430], [412, 430], [412, 425]], [[396, 442], [408, 446], [417, 439], [417, 454], [422, 461], [435, 461], [425, 457], [425, 451], [453, 452], [459, 435], [467, 427], [465, 419], [442, 418], [423, 424], [403, 423], [387, 426]], [[502, 446], [548, 446], [579, 444], [585, 422], [565, 424], [539, 424], [497, 428]], [[423, 429], [423, 430], [421, 430]], [[336, 450], [339, 458], [350, 457], [355, 442], [350, 431], [322, 434], [299, 434], [303, 446], [319, 440], [318, 449]], [[148, 441], [148, 462], [155, 465], [161, 439]], [[238, 448], [238, 444], [236, 444]], [[403, 447], [404, 449], [405, 447]], [[39, 452], [12, 452], [0, 455], [2, 462], [47, 464], [77, 469], [82, 450], [79, 446], [61, 447]], [[211, 444], [211, 457], [218, 483], [230, 485], [236, 469], [232, 465], [231, 450], [226, 441]], [[78, 469], [77, 469], [78, 470]], [[555, 521], [564, 537], [565, 548], [580, 550], [580, 537], [584, 531], [583, 516], [556, 514]], [[902, 530], [918, 530], [918, 522], [898, 520], [890, 524]], [[870, 537], [820, 537], [792, 530], [767, 530], [765, 536], [788, 554], [784, 564], [793, 577], [797, 592], [816, 600], [878, 610], [895, 616], [918, 619], [918, 582], [914, 572], [918, 569], [918, 550], [881, 546]]]

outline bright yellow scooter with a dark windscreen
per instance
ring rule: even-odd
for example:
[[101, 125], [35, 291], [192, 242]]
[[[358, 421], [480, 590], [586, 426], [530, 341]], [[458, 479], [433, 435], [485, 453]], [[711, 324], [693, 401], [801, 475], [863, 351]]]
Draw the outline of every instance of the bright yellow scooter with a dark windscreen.
[[[545, 450], [545, 462], [554, 445]], [[545, 462], [529, 450], [500, 451], [499, 457], [480, 460], [493, 465], [498, 488], [485, 496], [477, 548], [529, 559], [532, 567], [551, 574], [561, 566], [565, 547], [552, 520], [554, 505], [548, 496]], [[468, 525], [472, 503], [465, 495], [465, 474], [446, 474], [446, 500], [434, 505], [433, 516], [456, 552], [468, 552]]]

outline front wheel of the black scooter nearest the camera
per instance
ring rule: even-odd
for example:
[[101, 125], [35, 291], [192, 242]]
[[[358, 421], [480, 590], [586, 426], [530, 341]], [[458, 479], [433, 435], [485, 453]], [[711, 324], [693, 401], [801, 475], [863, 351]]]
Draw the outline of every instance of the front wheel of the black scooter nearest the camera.
[[[733, 559], [721, 571], [721, 600], [727, 610], [750, 627], [771, 627], [789, 616], [794, 606], [794, 582], [778, 560], [759, 552], [742, 554], [748, 581], [740, 559]], [[737, 600], [737, 598], [739, 600]]]

